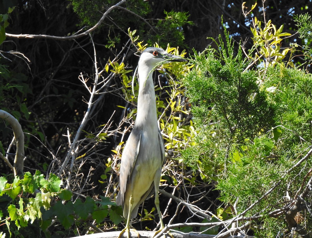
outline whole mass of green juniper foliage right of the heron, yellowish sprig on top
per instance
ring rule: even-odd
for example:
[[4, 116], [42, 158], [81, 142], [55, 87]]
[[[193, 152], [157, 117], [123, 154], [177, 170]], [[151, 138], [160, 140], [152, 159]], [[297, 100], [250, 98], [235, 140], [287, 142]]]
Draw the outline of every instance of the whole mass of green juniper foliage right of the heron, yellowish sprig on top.
[[[249, 59], [256, 59], [254, 51], [246, 58], [241, 48], [235, 53], [227, 32], [225, 41], [220, 36], [216, 42], [217, 49], [195, 53], [192, 63], [196, 69], [183, 83], [193, 104], [197, 136], [195, 145], [181, 153], [193, 170], [199, 168], [204, 177], [217, 181], [219, 201], [224, 203], [219, 209], [233, 208], [218, 215], [220, 219], [229, 219], [233, 212], [244, 212], [247, 217], [256, 214], [261, 221], [250, 222], [250, 229], [259, 237], [276, 237], [280, 232], [289, 233], [289, 224], [270, 214], [291, 203], [310, 177], [312, 160], [302, 163], [300, 159], [312, 140], [312, 75], [286, 68], [281, 61], [285, 54], [276, 46], [272, 49], [279, 51], [266, 55], [271, 44], [288, 35], [281, 33], [282, 27], [276, 30], [271, 21], [266, 27], [267, 35], [259, 30], [260, 24], [254, 32], [259, 36], [254, 48], [262, 49], [256, 58], [273, 53], [277, 58], [263, 68], [250, 68]], [[309, 204], [311, 197], [305, 201]], [[310, 215], [302, 219], [305, 230], [310, 231]]]

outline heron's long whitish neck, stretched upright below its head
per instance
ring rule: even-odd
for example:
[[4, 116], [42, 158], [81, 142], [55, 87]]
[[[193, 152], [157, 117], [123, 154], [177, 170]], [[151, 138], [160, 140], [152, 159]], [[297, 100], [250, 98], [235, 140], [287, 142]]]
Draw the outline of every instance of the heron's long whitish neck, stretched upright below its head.
[[156, 99], [153, 83], [153, 67], [139, 62], [139, 96], [136, 126], [149, 126], [148, 130], [158, 130]]

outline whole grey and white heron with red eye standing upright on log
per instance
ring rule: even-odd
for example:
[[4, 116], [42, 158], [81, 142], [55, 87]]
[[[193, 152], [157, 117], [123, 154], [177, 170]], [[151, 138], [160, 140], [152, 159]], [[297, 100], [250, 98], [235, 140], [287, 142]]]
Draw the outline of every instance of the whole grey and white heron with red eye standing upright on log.
[[130, 236], [130, 218], [137, 216], [139, 205], [150, 198], [154, 191], [155, 205], [160, 219], [160, 231], [164, 228], [159, 209], [158, 190], [161, 169], [165, 160], [165, 148], [158, 128], [152, 75], [156, 66], [173, 61], [183, 62], [186, 60], [155, 47], [146, 48], [139, 58], [138, 112], [134, 128], [122, 153], [119, 176], [120, 190], [116, 198], [116, 203], [122, 205], [124, 218], [127, 220], [119, 237], [125, 231], [127, 231], [128, 237]]

